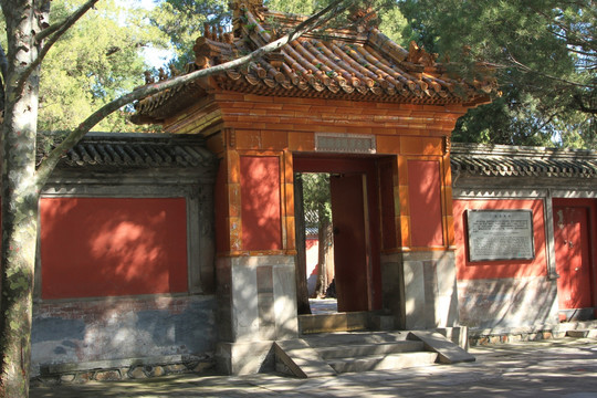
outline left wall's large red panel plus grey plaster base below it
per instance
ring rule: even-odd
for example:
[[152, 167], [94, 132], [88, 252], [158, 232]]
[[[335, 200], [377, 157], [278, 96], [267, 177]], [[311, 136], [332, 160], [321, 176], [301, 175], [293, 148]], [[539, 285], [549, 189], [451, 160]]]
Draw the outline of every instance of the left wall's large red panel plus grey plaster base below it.
[[216, 298], [156, 295], [188, 291], [184, 198], [43, 198], [40, 210], [43, 301], [33, 313], [33, 371], [40, 364], [212, 355]]

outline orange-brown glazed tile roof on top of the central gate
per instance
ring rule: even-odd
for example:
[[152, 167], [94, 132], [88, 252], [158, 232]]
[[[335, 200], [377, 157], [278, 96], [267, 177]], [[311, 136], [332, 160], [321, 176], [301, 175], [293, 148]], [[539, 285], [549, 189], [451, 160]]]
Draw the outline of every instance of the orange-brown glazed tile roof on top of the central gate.
[[[237, 0], [233, 31], [206, 25], [193, 46], [196, 59], [187, 72], [238, 59], [268, 44], [305, 18], [269, 11], [261, 0]], [[364, 19], [363, 23], [368, 20]], [[261, 95], [321, 97], [410, 104], [479, 104], [495, 91], [495, 80], [465, 82], [448, 76], [443, 65], [411, 43], [409, 50], [377, 28], [310, 33], [242, 67], [222, 72], [210, 87], [192, 83], [136, 104], [135, 123], [159, 121], [180, 109], [180, 101], [205, 95], [210, 88]], [[488, 70], [489, 71], [489, 70]], [[165, 74], [161, 73], [161, 78]], [[148, 80], [150, 83], [151, 80]], [[182, 92], [186, 92], [182, 93]]]

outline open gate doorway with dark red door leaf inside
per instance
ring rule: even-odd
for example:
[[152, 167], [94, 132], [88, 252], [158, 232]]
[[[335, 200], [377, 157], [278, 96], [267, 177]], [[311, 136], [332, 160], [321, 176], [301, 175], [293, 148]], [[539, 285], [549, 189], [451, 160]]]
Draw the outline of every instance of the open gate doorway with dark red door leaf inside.
[[300, 315], [380, 308], [376, 170], [375, 159], [294, 159]]

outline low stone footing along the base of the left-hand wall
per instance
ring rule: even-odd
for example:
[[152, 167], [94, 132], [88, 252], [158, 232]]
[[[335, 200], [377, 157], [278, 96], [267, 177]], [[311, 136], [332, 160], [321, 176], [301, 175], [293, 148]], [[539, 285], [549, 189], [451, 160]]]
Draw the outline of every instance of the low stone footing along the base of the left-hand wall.
[[166, 355], [159, 357], [46, 364], [32, 384], [53, 386], [86, 381], [144, 379], [174, 374], [208, 373], [216, 367], [213, 356]]

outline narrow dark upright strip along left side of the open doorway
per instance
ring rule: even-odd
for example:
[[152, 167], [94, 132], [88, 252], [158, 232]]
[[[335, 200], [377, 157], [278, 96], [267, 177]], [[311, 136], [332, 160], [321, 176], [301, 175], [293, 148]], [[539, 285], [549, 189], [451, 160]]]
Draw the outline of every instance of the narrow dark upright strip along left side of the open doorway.
[[294, 220], [296, 233], [296, 306], [298, 314], [311, 314], [308, 304], [308, 287], [306, 283], [306, 253], [305, 253], [305, 214], [303, 207], [303, 179], [300, 174], [294, 175]]

